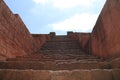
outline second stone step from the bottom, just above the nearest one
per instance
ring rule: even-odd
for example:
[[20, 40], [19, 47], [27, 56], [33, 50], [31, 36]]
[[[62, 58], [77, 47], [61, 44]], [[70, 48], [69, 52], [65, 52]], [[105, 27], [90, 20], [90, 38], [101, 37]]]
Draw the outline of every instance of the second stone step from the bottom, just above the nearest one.
[[[104, 66], [105, 65], [105, 66]], [[73, 70], [73, 69], [101, 69], [110, 68], [102, 62], [93, 61], [4, 61], [0, 62], [0, 69], [35, 69], [35, 70]]]

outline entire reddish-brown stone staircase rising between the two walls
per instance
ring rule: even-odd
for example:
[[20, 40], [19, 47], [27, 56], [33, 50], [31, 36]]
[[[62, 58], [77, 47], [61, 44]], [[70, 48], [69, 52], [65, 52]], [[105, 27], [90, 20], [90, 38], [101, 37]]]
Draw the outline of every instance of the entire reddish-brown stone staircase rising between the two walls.
[[76, 40], [55, 36], [34, 54], [0, 61], [0, 80], [120, 80], [120, 70], [110, 68]]

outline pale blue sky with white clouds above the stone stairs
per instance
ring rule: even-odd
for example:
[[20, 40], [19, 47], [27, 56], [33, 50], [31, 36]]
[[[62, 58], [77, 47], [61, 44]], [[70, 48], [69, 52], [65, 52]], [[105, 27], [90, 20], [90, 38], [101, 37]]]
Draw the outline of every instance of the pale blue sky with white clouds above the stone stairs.
[[4, 0], [30, 33], [91, 32], [106, 0]]

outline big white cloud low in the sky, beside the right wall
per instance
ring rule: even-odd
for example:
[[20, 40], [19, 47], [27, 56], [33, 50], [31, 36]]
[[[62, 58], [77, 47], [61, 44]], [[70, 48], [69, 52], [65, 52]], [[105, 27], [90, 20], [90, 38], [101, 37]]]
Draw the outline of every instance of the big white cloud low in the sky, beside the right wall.
[[86, 32], [92, 30], [97, 20], [98, 14], [75, 14], [64, 21], [49, 24], [55, 31], [81, 31]]

